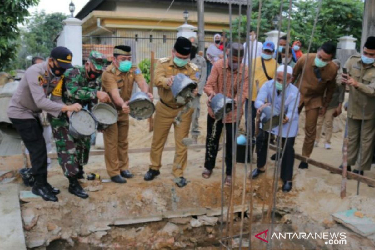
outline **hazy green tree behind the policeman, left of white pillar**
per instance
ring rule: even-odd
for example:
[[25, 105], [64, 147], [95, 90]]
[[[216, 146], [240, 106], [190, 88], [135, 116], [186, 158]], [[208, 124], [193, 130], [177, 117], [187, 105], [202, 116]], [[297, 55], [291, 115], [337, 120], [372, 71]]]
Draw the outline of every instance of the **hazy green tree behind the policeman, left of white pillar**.
[[63, 13], [34, 12], [28, 26], [21, 31], [21, 46], [14, 67], [25, 69], [30, 66], [30, 61], [25, 60], [28, 55], [48, 57], [56, 46], [55, 38], [62, 31], [62, 21], [66, 18], [68, 15]]

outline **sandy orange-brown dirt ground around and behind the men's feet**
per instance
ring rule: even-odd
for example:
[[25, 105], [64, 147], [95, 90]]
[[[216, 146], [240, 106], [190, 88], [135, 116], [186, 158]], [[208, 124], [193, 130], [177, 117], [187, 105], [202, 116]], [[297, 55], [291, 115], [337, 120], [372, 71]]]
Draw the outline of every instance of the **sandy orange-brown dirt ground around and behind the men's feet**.
[[[204, 144], [205, 142], [205, 121], [207, 120], [207, 109], [205, 106], [206, 100], [207, 97], [203, 95], [201, 98], [201, 117], [199, 118], [201, 130], [201, 135], [198, 138], [199, 144]], [[345, 115], [346, 114], [342, 114], [339, 118], [336, 118], [337, 121], [335, 122], [335, 126], [338, 132], [333, 134], [332, 149], [325, 150], [323, 148], [322, 138], [321, 145], [314, 148], [314, 152], [311, 156], [312, 158], [334, 166], [339, 166], [341, 164], [341, 147], [344, 135], [343, 121], [345, 121]], [[303, 121], [304, 118], [301, 117], [300, 135], [297, 136], [295, 145], [297, 153], [301, 153], [302, 151], [303, 131], [301, 130], [303, 128]], [[152, 133], [148, 132], [147, 121], [130, 120], [130, 148], [150, 147], [151, 139]], [[171, 129], [166, 145], [174, 145], [173, 128]], [[270, 152], [273, 153], [272, 151]], [[201, 172], [204, 169], [204, 154], [204, 149], [189, 150], [188, 166], [185, 171], [185, 177], [189, 183], [183, 189], [179, 189], [173, 183], [173, 175], [171, 170], [174, 151], [166, 151], [163, 153], [163, 166], [160, 169], [161, 174], [155, 180], [150, 182], [145, 182], [143, 180], [143, 175], [148, 169], [149, 154], [130, 154], [130, 171], [135, 174], [135, 177], [129, 179], [126, 184], [122, 185], [115, 183], [100, 183], [99, 181], [85, 181], [83, 186], [89, 190], [90, 195], [90, 198], [87, 200], [79, 199], [68, 193], [68, 180], [63, 177], [57, 161], [53, 160], [52, 168], [49, 171], [49, 181], [52, 186], [55, 186], [62, 191], [62, 193], [58, 195], [60, 201], [58, 203], [30, 202], [22, 205], [21, 209], [23, 213], [27, 209], [32, 209], [39, 214], [38, 223], [32, 229], [26, 231], [27, 242], [30, 244], [31, 241], [42, 237], [44, 240], [44, 246], [56, 239], [65, 239], [68, 242], [73, 240], [75, 242], [79, 241], [80, 243], [91, 243], [96, 244], [96, 246], [100, 246], [100, 244], [103, 242], [109, 242], [108, 239], [112, 237], [111, 244], [114, 244], [114, 239], [117, 239], [118, 241], [124, 241], [127, 239], [127, 241], [131, 241], [133, 242], [132, 244], [135, 244], [132, 246], [136, 246], [137, 238], [140, 237], [143, 239], [147, 234], [155, 234], [157, 236], [158, 234], [152, 232], [152, 227], [154, 229], [156, 227], [157, 230], [159, 230], [160, 228], [158, 227], [161, 227], [162, 225], [154, 225], [151, 228], [148, 228], [147, 232], [142, 231], [143, 229], [141, 232], [138, 232], [139, 230], [136, 229], [137, 227], [127, 228], [126, 230], [131, 230], [132, 234], [130, 234], [130, 236], [126, 239], [121, 238], [123, 237], [121, 236], [121, 230], [125, 230], [125, 228], [121, 229], [116, 227], [116, 229], [113, 229], [108, 235], [107, 233], [98, 234], [98, 232], [96, 232], [95, 235], [91, 236], [88, 228], [95, 223], [99, 223], [104, 227], [113, 225], [116, 220], [134, 216], [150, 216], [153, 214], [167, 213], [169, 211], [182, 211], [187, 208], [219, 208], [221, 204], [220, 185], [222, 176], [222, 157], [220, 156], [222, 155], [222, 151], [220, 151], [218, 154], [219, 157], [217, 158], [216, 168], [214, 169], [213, 175], [208, 180], [201, 177]], [[289, 210], [294, 211], [294, 213], [298, 213], [300, 216], [308, 217], [310, 222], [312, 221], [317, 223], [317, 225], [320, 225], [321, 227], [323, 227], [324, 223], [332, 222], [332, 213], [352, 208], [362, 211], [365, 216], [375, 220], [375, 210], [373, 209], [375, 206], [374, 189], [368, 187], [366, 184], [360, 184], [360, 195], [357, 196], [357, 181], [348, 180], [347, 198], [342, 200], [340, 198], [340, 175], [330, 174], [328, 171], [315, 166], [309, 166], [309, 169], [300, 170], [298, 169], [299, 163], [299, 160], [295, 161], [293, 189], [290, 193], [286, 194], [279, 190], [277, 195], [277, 207], [288, 208]], [[252, 164], [252, 167], [255, 168], [254, 163]], [[248, 168], [250, 168], [250, 166], [248, 166]], [[274, 163], [270, 161], [266, 175], [261, 176], [254, 181], [253, 192], [250, 192], [249, 180], [246, 180], [246, 201], [249, 200], [250, 194], [252, 194], [254, 196], [254, 206], [257, 208], [260, 208], [264, 201], [269, 202], [270, 195], [268, 193], [271, 192], [270, 189], [273, 170]], [[89, 164], [85, 166], [85, 171], [86, 173], [98, 173], [101, 175], [102, 179], [109, 178], [105, 170], [104, 156], [90, 157]], [[243, 180], [245, 180], [245, 174], [246, 171], [244, 165], [237, 164], [236, 187], [234, 190], [234, 204], [236, 205], [241, 204], [242, 184]], [[365, 174], [372, 178], [375, 177], [374, 171], [371, 171], [370, 173], [366, 172]], [[280, 188], [281, 183], [279, 183], [279, 189]], [[23, 187], [23, 189], [27, 190], [26, 187]], [[264, 193], [267, 194], [264, 195]], [[228, 187], [225, 187], [223, 194], [224, 205], [228, 205]], [[293, 220], [293, 223], [297, 223], [298, 221], [302, 223], [302, 219], [295, 219]], [[57, 232], [57, 234], [52, 234], [55, 230], [55, 226], [60, 228], [60, 230]], [[207, 235], [214, 235], [213, 232], [206, 233], [207, 234], [201, 234], [201, 237], [203, 237], [201, 240], [203, 242], [204, 237], [206, 237], [207, 240]], [[92, 238], [87, 240], [85, 237]], [[121, 239], [119, 240], [118, 237]], [[212, 236], [211, 238], [216, 238], [216, 236]], [[375, 246], [374, 238], [375, 237], [372, 236], [369, 237], [370, 240], [364, 240], [360, 237], [354, 237], [354, 243], [349, 249], [366, 249], [367, 246]], [[198, 240], [196, 240], [196, 242], [199, 241], [199, 238], [197, 239]], [[176, 244], [175, 240], [177, 240], [177, 238], [174, 238], [173, 242], [171, 243], [172, 245], [174, 244], [174, 246]], [[190, 237], [190, 244], [192, 244], [192, 246], [196, 246], [196, 242], [191, 240]], [[106, 246], [114, 246], [111, 244], [107, 244]], [[164, 245], [154, 247], [154, 241], [152, 244], [147, 244], [142, 246], [153, 246], [152, 249], [164, 249], [163, 247], [168, 249], [168, 247], [170, 247]], [[365, 244], [366, 247], [360, 247], [360, 244]], [[119, 246], [121, 246], [121, 244]], [[170, 248], [174, 249], [173, 247]], [[186, 245], [185, 247], [175, 247], [175, 249], [185, 248]], [[129, 249], [132, 249], [132, 247]], [[141, 247], [139, 249], [148, 248]]]

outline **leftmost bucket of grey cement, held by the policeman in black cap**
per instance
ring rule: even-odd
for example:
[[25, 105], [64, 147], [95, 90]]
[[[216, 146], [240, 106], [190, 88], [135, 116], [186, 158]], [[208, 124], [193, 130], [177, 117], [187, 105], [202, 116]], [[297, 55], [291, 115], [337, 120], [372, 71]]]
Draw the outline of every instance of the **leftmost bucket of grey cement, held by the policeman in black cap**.
[[90, 111], [81, 109], [78, 112], [72, 112], [69, 119], [69, 133], [74, 138], [83, 138], [95, 133], [98, 127], [98, 122]]

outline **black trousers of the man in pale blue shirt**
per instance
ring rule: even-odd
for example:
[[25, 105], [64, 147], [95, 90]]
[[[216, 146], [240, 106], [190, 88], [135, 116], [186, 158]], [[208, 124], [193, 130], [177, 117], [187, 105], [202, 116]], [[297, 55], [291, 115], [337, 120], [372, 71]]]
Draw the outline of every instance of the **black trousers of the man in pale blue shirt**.
[[[267, 142], [269, 137], [269, 132], [260, 130], [257, 136], [257, 167], [262, 168], [267, 162]], [[281, 161], [281, 179], [283, 181], [291, 181], [293, 178], [293, 166], [294, 166], [294, 139], [295, 137], [282, 138], [282, 145], [284, 145], [287, 139], [287, 144], [285, 145], [284, 157]]]

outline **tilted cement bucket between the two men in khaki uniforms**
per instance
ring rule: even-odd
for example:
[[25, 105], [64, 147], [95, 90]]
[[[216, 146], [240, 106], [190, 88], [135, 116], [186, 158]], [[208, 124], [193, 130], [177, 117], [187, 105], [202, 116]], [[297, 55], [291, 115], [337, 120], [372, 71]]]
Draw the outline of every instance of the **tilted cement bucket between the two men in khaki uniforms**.
[[130, 116], [136, 120], [144, 120], [155, 112], [155, 105], [144, 92], [136, 92], [129, 100]]

